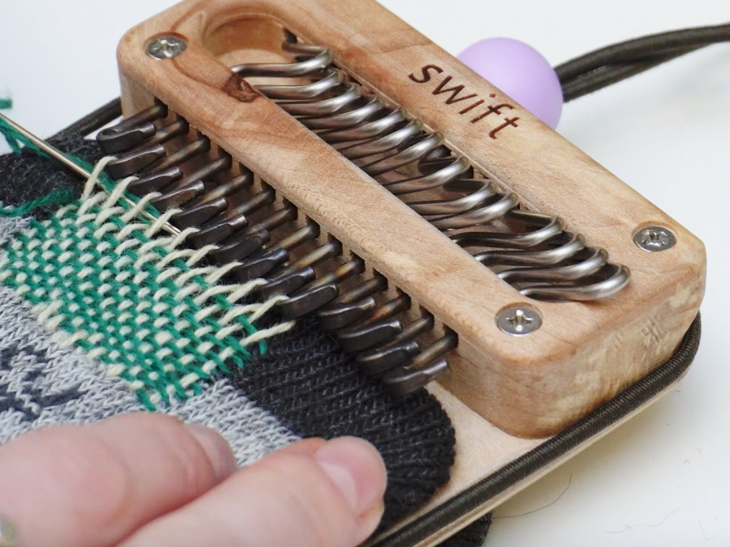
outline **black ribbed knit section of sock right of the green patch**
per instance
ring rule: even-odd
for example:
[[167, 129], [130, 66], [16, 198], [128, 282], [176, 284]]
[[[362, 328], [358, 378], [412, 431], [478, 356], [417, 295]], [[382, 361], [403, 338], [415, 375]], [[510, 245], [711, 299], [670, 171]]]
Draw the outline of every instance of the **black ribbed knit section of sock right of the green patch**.
[[[380, 451], [388, 468], [383, 527], [418, 508], [448, 480], [453, 430], [425, 389], [403, 399], [358, 373], [353, 359], [316, 320], [301, 319], [249, 368], [234, 371], [243, 392], [304, 437], [357, 435]], [[442, 424], [442, 427], [434, 427]]]

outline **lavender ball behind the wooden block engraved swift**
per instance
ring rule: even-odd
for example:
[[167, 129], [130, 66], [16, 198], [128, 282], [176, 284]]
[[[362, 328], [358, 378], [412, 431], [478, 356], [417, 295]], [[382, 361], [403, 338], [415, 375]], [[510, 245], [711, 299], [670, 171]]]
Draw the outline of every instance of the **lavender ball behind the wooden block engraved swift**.
[[458, 58], [556, 128], [563, 109], [560, 82], [550, 63], [533, 47], [511, 38], [488, 38], [467, 47]]

